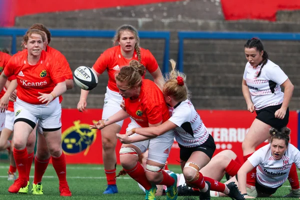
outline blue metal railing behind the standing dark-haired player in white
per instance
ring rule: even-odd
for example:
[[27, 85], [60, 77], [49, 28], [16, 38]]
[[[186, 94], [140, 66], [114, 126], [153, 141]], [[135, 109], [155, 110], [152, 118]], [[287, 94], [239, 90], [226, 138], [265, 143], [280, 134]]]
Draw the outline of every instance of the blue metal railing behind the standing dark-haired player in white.
[[178, 70], [183, 71], [184, 39], [250, 39], [258, 37], [262, 40], [300, 40], [300, 33], [283, 32], [178, 32]]

